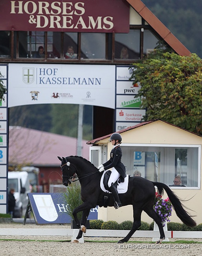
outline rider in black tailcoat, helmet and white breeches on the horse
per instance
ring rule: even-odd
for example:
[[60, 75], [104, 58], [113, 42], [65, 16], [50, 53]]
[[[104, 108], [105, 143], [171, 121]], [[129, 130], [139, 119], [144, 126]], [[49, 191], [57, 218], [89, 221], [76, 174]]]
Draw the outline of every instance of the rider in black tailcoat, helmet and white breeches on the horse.
[[99, 165], [97, 168], [99, 172], [106, 171], [111, 168], [112, 173], [108, 180], [108, 187], [112, 192], [114, 197], [114, 208], [118, 209], [122, 206], [121, 201], [119, 199], [119, 194], [114, 183], [118, 180], [119, 183], [124, 182], [124, 178], [126, 177], [126, 169], [123, 163], [121, 162], [122, 150], [120, 147], [122, 137], [121, 134], [115, 132], [111, 135], [110, 141], [113, 145], [112, 151], [110, 152], [110, 160], [106, 163]]

